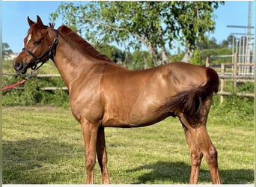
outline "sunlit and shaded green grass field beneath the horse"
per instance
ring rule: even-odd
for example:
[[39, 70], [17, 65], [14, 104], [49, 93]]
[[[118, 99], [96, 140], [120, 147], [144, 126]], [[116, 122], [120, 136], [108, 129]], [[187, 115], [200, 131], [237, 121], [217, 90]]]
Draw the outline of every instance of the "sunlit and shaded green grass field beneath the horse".
[[[3, 183], [85, 183], [82, 132], [70, 108], [4, 106], [2, 117]], [[223, 118], [218, 109], [211, 111], [208, 122], [219, 153], [222, 183], [254, 183], [253, 117], [242, 118], [234, 112]], [[106, 146], [113, 184], [189, 182], [189, 150], [177, 118], [138, 129], [106, 128]], [[95, 183], [100, 184], [98, 165], [94, 174]], [[204, 160], [199, 183], [211, 183]]]

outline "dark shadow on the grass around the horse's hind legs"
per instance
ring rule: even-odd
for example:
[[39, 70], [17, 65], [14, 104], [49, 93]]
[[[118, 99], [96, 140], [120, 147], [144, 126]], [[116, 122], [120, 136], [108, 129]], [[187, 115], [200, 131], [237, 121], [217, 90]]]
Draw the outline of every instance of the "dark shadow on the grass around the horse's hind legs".
[[[156, 162], [152, 165], [143, 165], [127, 170], [136, 172], [145, 170], [138, 176], [138, 183], [189, 183], [190, 165], [184, 162]], [[149, 172], [147, 172], [149, 171]], [[143, 172], [142, 172], [143, 173]], [[248, 184], [254, 183], [254, 171], [252, 169], [221, 170], [220, 177], [223, 184]], [[211, 183], [210, 171], [201, 169], [198, 183]]]

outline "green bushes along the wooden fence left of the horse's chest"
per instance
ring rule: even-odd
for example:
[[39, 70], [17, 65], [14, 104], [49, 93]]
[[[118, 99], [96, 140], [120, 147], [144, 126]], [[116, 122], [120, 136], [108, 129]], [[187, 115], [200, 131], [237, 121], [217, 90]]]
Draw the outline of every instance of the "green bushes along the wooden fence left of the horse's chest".
[[[4, 76], [3, 79], [4, 85], [12, 85], [22, 78]], [[20, 89], [22, 87], [23, 90]], [[47, 79], [32, 77], [24, 85], [4, 91], [2, 93], [2, 105], [69, 105], [68, 91], [40, 91], [40, 88], [43, 87], [64, 87], [64, 83], [60, 77]]]

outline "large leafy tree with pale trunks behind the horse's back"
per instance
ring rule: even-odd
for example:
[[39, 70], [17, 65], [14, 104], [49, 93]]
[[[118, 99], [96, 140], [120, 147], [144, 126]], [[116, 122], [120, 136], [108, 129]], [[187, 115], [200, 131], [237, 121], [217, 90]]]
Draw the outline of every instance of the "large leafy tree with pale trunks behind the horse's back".
[[[168, 62], [166, 46], [180, 41], [193, 52], [198, 40], [214, 31], [213, 10], [219, 1], [91, 1], [64, 3], [52, 21], [62, 17], [64, 24], [93, 43], [116, 42], [126, 48], [146, 46], [154, 65]], [[161, 53], [161, 55], [159, 55]], [[160, 56], [160, 58], [159, 58]]]

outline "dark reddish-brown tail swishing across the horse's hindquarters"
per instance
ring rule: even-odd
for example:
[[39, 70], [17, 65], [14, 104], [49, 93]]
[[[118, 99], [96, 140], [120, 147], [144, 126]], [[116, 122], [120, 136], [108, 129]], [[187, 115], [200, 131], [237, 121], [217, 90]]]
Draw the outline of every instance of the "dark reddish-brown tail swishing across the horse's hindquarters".
[[175, 115], [183, 113], [191, 126], [197, 126], [204, 117], [204, 102], [208, 96], [218, 92], [219, 76], [215, 70], [206, 68], [207, 82], [205, 85], [194, 86], [180, 91], [168, 99], [157, 111], [171, 111]]

